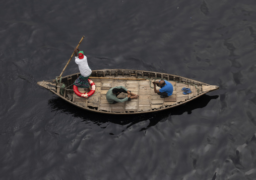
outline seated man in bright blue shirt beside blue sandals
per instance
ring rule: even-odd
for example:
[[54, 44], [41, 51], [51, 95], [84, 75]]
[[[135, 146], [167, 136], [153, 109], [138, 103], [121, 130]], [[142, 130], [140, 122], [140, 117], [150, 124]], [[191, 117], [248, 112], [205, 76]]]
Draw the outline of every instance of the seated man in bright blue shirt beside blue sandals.
[[[173, 86], [168, 81], [160, 80], [158, 82], [153, 82], [153, 84], [154, 84], [155, 93], [157, 93], [158, 95], [161, 95], [160, 96], [161, 98], [165, 98], [165, 97], [172, 95]], [[156, 90], [156, 85], [161, 87], [161, 89]]]

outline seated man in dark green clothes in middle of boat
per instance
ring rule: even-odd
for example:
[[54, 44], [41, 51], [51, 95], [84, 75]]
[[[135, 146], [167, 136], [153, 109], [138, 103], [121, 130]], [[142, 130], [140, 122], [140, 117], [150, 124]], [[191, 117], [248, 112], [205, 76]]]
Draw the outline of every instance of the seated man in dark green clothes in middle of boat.
[[[127, 93], [127, 97], [125, 98], [117, 98], [118, 94], [121, 92]], [[107, 101], [110, 104], [115, 104], [117, 102], [124, 102], [124, 101], [131, 101], [131, 99], [137, 99], [138, 95], [131, 93], [131, 91], [128, 91], [125, 87], [123, 86], [116, 86], [108, 90], [107, 94]]]

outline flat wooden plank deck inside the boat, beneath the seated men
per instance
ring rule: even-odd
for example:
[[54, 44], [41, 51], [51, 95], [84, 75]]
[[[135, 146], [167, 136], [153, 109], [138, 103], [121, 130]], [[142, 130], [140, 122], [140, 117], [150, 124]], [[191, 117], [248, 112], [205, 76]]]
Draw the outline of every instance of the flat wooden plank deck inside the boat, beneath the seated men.
[[[160, 80], [160, 79], [159, 79]], [[79, 97], [75, 93], [73, 95], [73, 102], [88, 108], [94, 108], [100, 111], [106, 112], [141, 112], [150, 111], [160, 108], [165, 108], [168, 106], [176, 105], [177, 103], [185, 102], [198, 95], [196, 87], [194, 85], [176, 83], [169, 81], [173, 85], [173, 94], [167, 98], [161, 98], [160, 95], [154, 92], [153, 83], [149, 80], [114, 80], [114, 79], [94, 79], [93, 80], [97, 89], [95, 93], [88, 99], [84, 97]], [[158, 80], [156, 80], [158, 81]], [[126, 101], [122, 103], [109, 104], [106, 100], [107, 91], [115, 86], [123, 86], [130, 90], [134, 94], [138, 94], [138, 99], [132, 99], [131, 101]], [[192, 91], [189, 94], [184, 95], [181, 90], [183, 87], [190, 88]], [[199, 87], [199, 86], [198, 86]], [[204, 89], [199, 87], [201, 91], [208, 90], [209, 87], [204, 87]], [[156, 87], [160, 89], [160, 87]], [[84, 93], [84, 89], [78, 88], [81, 93]], [[127, 94], [121, 93], [118, 98], [125, 98]]]

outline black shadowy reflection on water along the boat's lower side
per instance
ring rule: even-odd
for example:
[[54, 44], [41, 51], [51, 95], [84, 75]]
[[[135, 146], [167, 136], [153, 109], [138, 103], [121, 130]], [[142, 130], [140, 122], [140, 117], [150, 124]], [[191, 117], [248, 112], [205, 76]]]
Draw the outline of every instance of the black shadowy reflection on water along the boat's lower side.
[[147, 126], [148, 128], [150, 126], [156, 125], [158, 122], [166, 121], [172, 115], [181, 115], [185, 112], [187, 112], [187, 114], [191, 114], [193, 110], [207, 106], [207, 104], [212, 99], [217, 99], [218, 97], [219, 97], [218, 95], [209, 96], [204, 94], [193, 101], [189, 101], [184, 105], [177, 106], [171, 109], [166, 109], [163, 111], [157, 111], [152, 113], [145, 113], [145, 114], [127, 114], [127, 115], [101, 114], [101, 113], [86, 111], [70, 105], [70, 103], [62, 100], [59, 97], [51, 98], [48, 101], [48, 104], [51, 106], [52, 111], [60, 111], [60, 113], [72, 114], [74, 117], [81, 118], [82, 121], [91, 121], [98, 125], [101, 125], [106, 122], [111, 122], [111, 123], [120, 124], [120, 125], [128, 124], [128, 126], [126, 127], [128, 128], [138, 122], [149, 120], [150, 122]]

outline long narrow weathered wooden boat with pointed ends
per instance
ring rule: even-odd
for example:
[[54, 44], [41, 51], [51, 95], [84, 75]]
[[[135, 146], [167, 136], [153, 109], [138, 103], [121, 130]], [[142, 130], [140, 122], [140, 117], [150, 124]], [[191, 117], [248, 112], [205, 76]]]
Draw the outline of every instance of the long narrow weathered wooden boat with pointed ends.
[[[80, 73], [57, 79], [40, 81], [38, 85], [50, 90], [60, 98], [85, 110], [107, 114], [137, 114], [161, 111], [173, 108], [191, 101], [203, 94], [219, 89], [218, 86], [209, 85], [185, 77], [140, 70], [105, 69], [92, 71], [91, 79], [95, 85], [95, 93], [89, 98], [79, 97], [74, 93], [73, 83]], [[168, 80], [173, 85], [173, 94], [161, 98], [154, 92], [152, 81]], [[115, 86], [124, 86], [133, 93], [138, 94], [138, 99], [122, 103], [109, 104], [106, 100], [107, 91]], [[191, 93], [184, 95], [183, 87], [190, 88]], [[157, 89], [160, 89], [157, 87]], [[78, 88], [81, 93], [84, 89]], [[121, 93], [118, 97], [125, 97]]]

